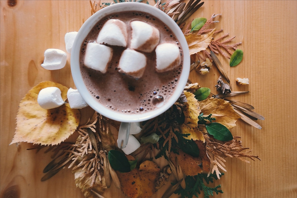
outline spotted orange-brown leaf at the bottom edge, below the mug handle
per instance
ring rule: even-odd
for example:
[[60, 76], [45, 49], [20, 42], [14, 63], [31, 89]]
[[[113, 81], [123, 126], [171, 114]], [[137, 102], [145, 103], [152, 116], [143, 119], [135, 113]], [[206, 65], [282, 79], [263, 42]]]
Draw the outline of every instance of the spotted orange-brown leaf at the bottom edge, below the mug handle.
[[160, 175], [160, 168], [153, 161], [144, 161], [139, 168], [128, 173], [117, 171], [123, 193], [131, 198], [149, 198], [156, 191], [155, 181]]

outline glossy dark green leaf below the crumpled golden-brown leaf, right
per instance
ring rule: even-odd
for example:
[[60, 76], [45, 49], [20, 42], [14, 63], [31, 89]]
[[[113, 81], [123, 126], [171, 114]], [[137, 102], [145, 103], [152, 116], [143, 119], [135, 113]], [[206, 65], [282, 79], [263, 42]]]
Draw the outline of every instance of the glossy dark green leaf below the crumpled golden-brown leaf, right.
[[210, 123], [205, 125], [207, 132], [215, 139], [220, 141], [233, 140], [233, 136], [229, 129], [220, 123]]

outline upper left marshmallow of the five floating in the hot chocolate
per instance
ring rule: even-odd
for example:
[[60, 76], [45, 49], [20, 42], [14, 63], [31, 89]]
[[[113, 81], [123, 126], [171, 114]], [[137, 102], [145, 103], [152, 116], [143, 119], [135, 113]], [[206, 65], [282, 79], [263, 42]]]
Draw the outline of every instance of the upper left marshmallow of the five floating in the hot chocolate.
[[97, 43], [127, 46], [127, 25], [119, 19], [109, 19], [102, 27], [97, 37]]

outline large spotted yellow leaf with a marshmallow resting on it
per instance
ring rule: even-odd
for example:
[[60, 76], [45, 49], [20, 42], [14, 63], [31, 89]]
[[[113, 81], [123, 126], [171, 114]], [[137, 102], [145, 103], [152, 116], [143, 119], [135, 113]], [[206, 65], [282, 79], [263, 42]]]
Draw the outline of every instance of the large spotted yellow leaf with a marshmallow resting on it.
[[69, 104], [54, 109], [43, 109], [37, 103], [38, 93], [46, 87], [58, 87], [62, 99], [67, 99], [68, 88], [51, 81], [45, 81], [33, 87], [19, 104], [16, 116], [15, 136], [11, 144], [30, 142], [41, 145], [55, 145], [67, 139], [80, 121], [80, 111], [71, 109]]

